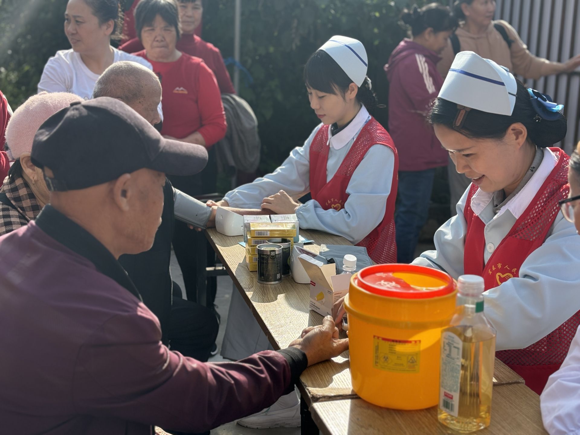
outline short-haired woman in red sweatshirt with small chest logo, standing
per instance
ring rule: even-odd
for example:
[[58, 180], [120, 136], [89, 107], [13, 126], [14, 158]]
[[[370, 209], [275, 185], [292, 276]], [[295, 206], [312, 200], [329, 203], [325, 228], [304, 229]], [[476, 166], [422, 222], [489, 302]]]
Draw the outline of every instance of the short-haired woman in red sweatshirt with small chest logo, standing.
[[[141, 0], [135, 9], [137, 35], [145, 49], [135, 53], [151, 62], [161, 81], [163, 127], [170, 139], [210, 148], [226, 135], [223, 110], [215, 75], [199, 57], [176, 49], [180, 37], [179, 13], [173, 0]], [[212, 154], [210, 154], [212, 155]], [[169, 176], [176, 189], [195, 196], [215, 191], [215, 158], [197, 175]], [[199, 240], [195, 231], [175, 223], [173, 249], [183, 272], [186, 292], [194, 294], [195, 264]]]

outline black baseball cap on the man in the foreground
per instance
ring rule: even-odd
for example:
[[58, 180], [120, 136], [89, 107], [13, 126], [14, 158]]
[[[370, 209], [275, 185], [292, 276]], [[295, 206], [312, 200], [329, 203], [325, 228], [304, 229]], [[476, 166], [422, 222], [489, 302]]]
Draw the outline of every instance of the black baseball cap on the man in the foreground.
[[208, 162], [204, 147], [165, 139], [141, 115], [110, 97], [74, 102], [48, 118], [32, 143], [31, 161], [50, 191], [86, 189], [142, 168], [193, 175]]

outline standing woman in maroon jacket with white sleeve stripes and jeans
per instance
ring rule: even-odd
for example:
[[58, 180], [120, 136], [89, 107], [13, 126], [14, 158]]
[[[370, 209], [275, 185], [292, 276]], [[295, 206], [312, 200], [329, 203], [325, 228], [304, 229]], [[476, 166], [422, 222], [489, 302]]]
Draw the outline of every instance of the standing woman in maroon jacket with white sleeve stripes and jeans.
[[449, 8], [431, 3], [404, 10], [401, 21], [411, 38], [403, 39], [385, 66], [389, 79], [389, 133], [399, 154], [395, 212], [397, 262], [415, 258], [419, 232], [427, 220], [435, 169], [447, 165], [445, 151], [426, 121], [443, 79], [439, 53], [457, 27]]

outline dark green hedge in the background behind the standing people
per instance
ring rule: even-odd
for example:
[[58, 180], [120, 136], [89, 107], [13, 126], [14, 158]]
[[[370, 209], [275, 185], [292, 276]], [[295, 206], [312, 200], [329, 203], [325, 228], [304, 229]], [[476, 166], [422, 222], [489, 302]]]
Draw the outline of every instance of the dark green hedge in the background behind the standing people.
[[[63, 31], [67, 0], [0, 0], [0, 90], [13, 109], [37, 92], [46, 60], [70, 48]], [[383, 65], [405, 31], [404, 0], [242, 0], [241, 63], [254, 84], [241, 96], [256, 112], [263, 144], [260, 172], [269, 172], [317, 125], [302, 81], [308, 57], [332, 35], [360, 39], [368, 75], [385, 103]], [[418, 3], [424, 3], [419, 1]], [[211, 0], [204, 39], [233, 55], [234, 0]], [[231, 71], [230, 71], [231, 73]]]

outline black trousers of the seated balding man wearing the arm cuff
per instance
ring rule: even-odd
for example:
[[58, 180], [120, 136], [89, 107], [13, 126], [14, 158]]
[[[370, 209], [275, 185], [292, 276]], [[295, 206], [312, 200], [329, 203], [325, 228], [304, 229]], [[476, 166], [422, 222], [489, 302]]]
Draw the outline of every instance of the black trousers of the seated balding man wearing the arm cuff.
[[218, 318], [209, 308], [173, 296], [169, 321], [169, 348], [206, 362], [218, 336]]

